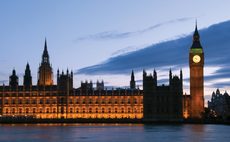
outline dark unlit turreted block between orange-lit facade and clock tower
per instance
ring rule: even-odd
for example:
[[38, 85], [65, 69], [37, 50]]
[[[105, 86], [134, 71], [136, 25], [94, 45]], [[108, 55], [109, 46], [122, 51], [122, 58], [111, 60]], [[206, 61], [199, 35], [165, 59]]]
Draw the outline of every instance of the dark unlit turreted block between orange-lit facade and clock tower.
[[182, 116], [182, 71], [180, 78], [169, 72], [169, 85], [157, 85], [157, 73], [143, 72], [144, 120], [181, 121]]

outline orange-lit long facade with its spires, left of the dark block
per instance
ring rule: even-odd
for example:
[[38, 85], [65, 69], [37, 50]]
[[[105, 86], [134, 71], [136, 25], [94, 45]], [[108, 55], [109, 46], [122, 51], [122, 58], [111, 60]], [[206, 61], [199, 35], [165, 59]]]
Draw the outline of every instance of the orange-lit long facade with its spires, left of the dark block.
[[104, 89], [104, 82], [81, 83], [73, 88], [73, 72], [59, 73], [53, 84], [53, 72], [49, 62], [47, 43], [38, 71], [38, 83], [32, 85], [30, 66], [27, 63], [23, 85], [19, 85], [13, 70], [8, 86], [0, 86], [0, 115], [3, 117], [33, 118], [130, 118], [143, 117], [143, 91], [136, 89], [134, 73], [132, 89]]

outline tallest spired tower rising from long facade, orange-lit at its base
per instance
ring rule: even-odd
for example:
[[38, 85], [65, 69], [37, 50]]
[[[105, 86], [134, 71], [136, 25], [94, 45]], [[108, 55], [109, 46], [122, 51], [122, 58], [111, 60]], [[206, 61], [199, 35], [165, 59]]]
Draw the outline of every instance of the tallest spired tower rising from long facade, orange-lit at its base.
[[53, 69], [49, 61], [49, 53], [47, 50], [46, 39], [45, 39], [44, 51], [42, 54], [42, 62], [38, 70], [38, 85], [39, 86], [53, 85]]

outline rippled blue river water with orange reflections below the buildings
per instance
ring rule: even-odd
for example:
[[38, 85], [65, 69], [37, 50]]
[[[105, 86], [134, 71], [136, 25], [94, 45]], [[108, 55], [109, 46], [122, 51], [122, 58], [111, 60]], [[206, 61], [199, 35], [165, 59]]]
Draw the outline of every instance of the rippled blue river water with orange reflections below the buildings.
[[0, 142], [230, 142], [228, 125], [10, 124]]

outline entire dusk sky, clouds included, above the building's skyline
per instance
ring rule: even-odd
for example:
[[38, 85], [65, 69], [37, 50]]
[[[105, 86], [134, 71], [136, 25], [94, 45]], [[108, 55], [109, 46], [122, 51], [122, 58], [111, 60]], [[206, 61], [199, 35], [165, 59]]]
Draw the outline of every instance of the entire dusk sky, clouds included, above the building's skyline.
[[[177, 75], [182, 68], [189, 93], [186, 57], [197, 19], [207, 61], [205, 95], [217, 87], [230, 91], [230, 22], [221, 24], [230, 20], [229, 5], [229, 0], [2, 0], [0, 84], [8, 84], [13, 68], [22, 82], [27, 62], [36, 84], [46, 38], [54, 74], [58, 68], [72, 69], [75, 87], [82, 80], [102, 79], [106, 86], [128, 86], [132, 69], [141, 87], [142, 69], [150, 73], [154, 68], [167, 84], [169, 68]], [[215, 37], [221, 46], [211, 42]], [[227, 51], [217, 54], [215, 45]]]

